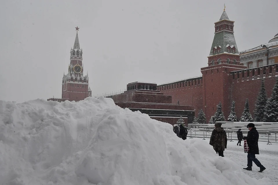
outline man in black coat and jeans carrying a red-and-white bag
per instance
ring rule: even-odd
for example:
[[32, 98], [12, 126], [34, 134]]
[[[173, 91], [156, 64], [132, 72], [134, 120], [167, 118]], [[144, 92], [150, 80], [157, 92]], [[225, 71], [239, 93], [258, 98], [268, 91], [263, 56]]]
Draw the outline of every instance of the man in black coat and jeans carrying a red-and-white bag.
[[258, 133], [254, 123], [249, 123], [247, 125], [247, 128], [249, 129], [249, 131], [248, 131], [247, 137], [244, 136], [244, 139], [246, 139], [248, 147], [249, 147], [249, 151], [247, 154], [247, 166], [248, 167], [244, 168], [244, 169], [252, 171], [252, 165], [254, 162], [258, 167], [260, 167], [259, 172], [262, 172], [266, 168], [255, 157], [255, 154], [259, 154], [259, 146], [258, 146], [259, 133]]

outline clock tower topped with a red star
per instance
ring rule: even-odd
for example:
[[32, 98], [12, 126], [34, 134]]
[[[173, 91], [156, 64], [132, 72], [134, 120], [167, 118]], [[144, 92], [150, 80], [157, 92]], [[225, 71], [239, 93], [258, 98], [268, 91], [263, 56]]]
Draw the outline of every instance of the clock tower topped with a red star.
[[92, 96], [88, 94], [88, 72], [87, 75], [84, 75], [82, 63], [83, 51], [80, 49], [79, 45], [78, 29], [79, 28], [76, 27], [74, 46], [70, 50], [68, 73], [63, 75], [62, 80], [62, 99], [69, 101], [80, 101], [88, 96]]

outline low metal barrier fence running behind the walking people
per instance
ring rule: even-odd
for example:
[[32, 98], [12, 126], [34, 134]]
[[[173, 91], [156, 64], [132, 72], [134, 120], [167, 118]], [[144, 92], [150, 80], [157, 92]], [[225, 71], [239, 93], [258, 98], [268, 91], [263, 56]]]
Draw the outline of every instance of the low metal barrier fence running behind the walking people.
[[[270, 133], [270, 132], [259, 132], [259, 141], [267, 142], [267, 145], [271, 145], [271, 143], [278, 143], [278, 134]], [[190, 138], [210, 138], [212, 130], [199, 130], [199, 129], [189, 129], [187, 136]], [[234, 131], [226, 131], [228, 141], [233, 142], [233, 140], [237, 140], [237, 133]], [[244, 136], [247, 136], [247, 132], [243, 132]]]

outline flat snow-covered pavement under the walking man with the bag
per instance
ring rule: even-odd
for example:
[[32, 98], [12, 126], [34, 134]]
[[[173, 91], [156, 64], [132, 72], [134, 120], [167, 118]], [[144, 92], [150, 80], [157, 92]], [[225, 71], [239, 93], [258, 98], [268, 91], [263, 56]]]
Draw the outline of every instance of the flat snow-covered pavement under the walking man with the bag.
[[[202, 138], [192, 139], [202, 140]], [[209, 138], [206, 138], [204, 142], [209, 144]], [[278, 185], [278, 144], [272, 143], [272, 145], [266, 145], [266, 142], [259, 142], [259, 153], [259, 155], [256, 155], [256, 158], [266, 167], [266, 170], [262, 173], [258, 172], [259, 167], [253, 163], [253, 171], [244, 170], [244, 173], [256, 179], [262, 179], [264, 177], [269, 178], [272, 180], [273, 185]], [[215, 155], [217, 154], [215, 153]], [[234, 142], [228, 141], [224, 156], [235, 161], [235, 163], [242, 166], [242, 168], [247, 167], [247, 153], [244, 153], [243, 146], [237, 146], [236, 140]]]

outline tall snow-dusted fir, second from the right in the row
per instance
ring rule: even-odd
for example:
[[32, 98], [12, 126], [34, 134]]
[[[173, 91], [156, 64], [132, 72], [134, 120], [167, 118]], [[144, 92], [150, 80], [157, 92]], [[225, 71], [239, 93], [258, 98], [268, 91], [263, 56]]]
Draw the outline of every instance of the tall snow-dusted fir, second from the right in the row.
[[265, 120], [266, 103], [267, 103], [266, 88], [264, 86], [264, 79], [263, 79], [261, 81], [261, 90], [259, 92], [256, 104], [255, 104], [255, 110], [254, 110], [255, 121], [264, 121]]

